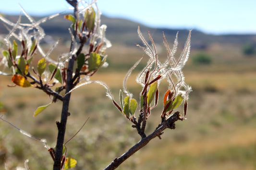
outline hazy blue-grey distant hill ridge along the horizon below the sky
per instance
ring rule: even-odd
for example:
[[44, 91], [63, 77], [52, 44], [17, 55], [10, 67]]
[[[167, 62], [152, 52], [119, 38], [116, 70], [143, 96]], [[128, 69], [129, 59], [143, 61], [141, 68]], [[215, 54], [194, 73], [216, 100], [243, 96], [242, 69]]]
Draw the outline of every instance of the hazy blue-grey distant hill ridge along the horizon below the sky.
[[[15, 22], [18, 19], [18, 16], [6, 15], [5, 18]], [[33, 17], [36, 21], [40, 17]], [[23, 16], [22, 22], [28, 22], [28, 20]], [[183, 44], [188, 35], [186, 29], [166, 29], [166, 28], [150, 28], [143, 24], [132, 22], [125, 19], [119, 18], [109, 18], [106, 16], [101, 17], [101, 23], [108, 26], [106, 36], [111, 41], [112, 44], [121, 44], [121, 45], [134, 45], [134, 43], [140, 43], [141, 41], [137, 35], [137, 28], [140, 26], [140, 29], [145, 37], [147, 36], [148, 31], [153, 36], [155, 43], [162, 43], [162, 32], [168, 38], [170, 43], [174, 41], [176, 33], [179, 31], [179, 41]], [[42, 23], [41, 26], [44, 28], [47, 35], [51, 35], [55, 38], [61, 38], [63, 41], [70, 40], [68, 28], [71, 25], [71, 22], [64, 19], [64, 15], [55, 17], [46, 23]], [[7, 30], [0, 22], [0, 34], [7, 34]], [[225, 35], [211, 35], [204, 34], [198, 30], [192, 31], [192, 47], [194, 48], [205, 48], [211, 43], [220, 43], [220, 44], [236, 44], [243, 45], [245, 43], [256, 44], [256, 34], [225, 34]]]

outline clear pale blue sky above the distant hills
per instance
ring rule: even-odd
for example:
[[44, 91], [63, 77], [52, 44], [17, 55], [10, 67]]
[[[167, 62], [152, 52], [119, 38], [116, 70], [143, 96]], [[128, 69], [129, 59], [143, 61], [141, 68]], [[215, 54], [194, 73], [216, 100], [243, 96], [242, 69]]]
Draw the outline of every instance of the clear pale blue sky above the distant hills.
[[[4, 0], [0, 12], [30, 15], [68, 11], [65, 0]], [[210, 34], [256, 34], [256, 0], [98, 0], [109, 17], [152, 27], [198, 29]]]

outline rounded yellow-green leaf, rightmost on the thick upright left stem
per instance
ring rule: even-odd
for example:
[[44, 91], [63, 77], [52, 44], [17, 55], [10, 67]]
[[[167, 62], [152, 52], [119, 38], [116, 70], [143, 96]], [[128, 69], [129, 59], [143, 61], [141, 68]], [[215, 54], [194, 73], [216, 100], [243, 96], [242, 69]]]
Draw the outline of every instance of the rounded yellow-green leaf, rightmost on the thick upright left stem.
[[89, 71], [97, 70], [102, 66], [102, 64], [105, 62], [106, 58], [97, 54], [97, 53], [91, 53], [90, 57], [88, 58], [88, 68]]

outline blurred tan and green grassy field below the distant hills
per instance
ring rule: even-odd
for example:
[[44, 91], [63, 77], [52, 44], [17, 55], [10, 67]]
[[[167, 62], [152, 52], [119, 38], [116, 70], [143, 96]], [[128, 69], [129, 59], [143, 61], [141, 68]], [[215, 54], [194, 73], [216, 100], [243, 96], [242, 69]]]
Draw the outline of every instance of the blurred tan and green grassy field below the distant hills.
[[[118, 170], [256, 170], [256, 56], [246, 57], [241, 49], [241, 45], [209, 45], [203, 52], [212, 57], [210, 65], [194, 64], [192, 57], [202, 51], [192, 49], [184, 68], [187, 84], [193, 88], [187, 120], [177, 122], [175, 130], [165, 130], [161, 140], [152, 140]], [[65, 50], [68, 49], [60, 46], [53, 55]], [[113, 46], [107, 54], [109, 68], [101, 68], [92, 79], [106, 82], [118, 100], [126, 71], [143, 52], [137, 47]], [[164, 55], [164, 49], [160, 50], [162, 61]], [[128, 80], [135, 99], [142, 89], [134, 79], [145, 62], [146, 59]], [[52, 104], [33, 117], [38, 106], [51, 101], [49, 97], [37, 89], [11, 88], [8, 84], [12, 84], [11, 78], [0, 76], [3, 117], [33, 136], [46, 138], [48, 145], [54, 147], [55, 122], [60, 119], [62, 103]], [[166, 83], [161, 84], [161, 89], [167, 89]], [[159, 107], [152, 110], [148, 119], [147, 134], [160, 123], [162, 99], [161, 93]], [[183, 112], [182, 108], [178, 110]], [[90, 117], [67, 144], [67, 155], [78, 162], [76, 170], [103, 169], [140, 140], [132, 124], [112, 105], [99, 85], [74, 91], [70, 113], [66, 140]], [[29, 159], [31, 170], [49, 170], [53, 164], [40, 142], [0, 121], [0, 169], [4, 168], [4, 161], [9, 170], [23, 167], [25, 159]]]

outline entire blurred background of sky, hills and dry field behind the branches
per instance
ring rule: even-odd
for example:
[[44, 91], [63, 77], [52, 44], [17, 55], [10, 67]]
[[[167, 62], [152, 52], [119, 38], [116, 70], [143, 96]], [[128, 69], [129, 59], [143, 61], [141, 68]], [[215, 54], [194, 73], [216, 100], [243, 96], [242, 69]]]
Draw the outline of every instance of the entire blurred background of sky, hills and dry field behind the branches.
[[[67, 28], [71, 23], [63, 16], [72, 11], [65, 0], [9, 0], [1, 3], [0, 13], [12, 22], [17, 21], [19, 3], [36, 21], [63, 12], [41, 24], [47, 34], [41, 44], [47, 50], [61, 38], [51, 54], [53, 58], [69, 51]], [[141, 44], [138, 26], [147, 40], [150, 31], [161, 61], [166, 57], [162, 32], [172, 46], [179, 31], [179, 57], [188, 31], [193, 29], [190, 58], [183, 68], [187, 84], [193, 88], [187, 120], [177, 122], [175, 130], [165, 130], [161, 140], [152, 140], [119, 170], [256, 170], [255, 6], [255, 0], [98, 0], [101, 23], [108, 26], [106, 37], [112, 47], [106, 51], [109, 67], [101, 68], [92, 79], [106, 82], [116, 100], [126, 72], [144, 55], [134, 45]], [[26, 22], [23, 16], [22, 23]], [[0, 22], [0, 36], [5, 34], [8, 31]], [[2, 41], [0, 48], [6, 48]], [[136, 100], [142, 89], [134, 79], [145, 64], [146, 56], [128, 80], [128, 88]], [[54, 147], [61, 102], [33, 117], [38, 106], [50, 102], [49, 97], [37, 89], [10, 88], [8, 84], [12, 84], [11, 77], [0, 76], [1, 114], [33, 136], [46, 138], [49, 146]], [[166, 91], [167, 83], [163, 82], [159, 88]], [[160, 93], [158, 107], [148, 119], [147, 134], [160, 123], [163, 95]], [[66, 140], [90, 117], [67, 144], [67, 155], [78, 162], [75, 169], [103, 169], [140, 140], [101, 86], [77, 89], [71, 99]], [[183, 112], [182, 109], [177, 110]], [[0, 121], [0, 169], [4, 168], [4, 162], [9, 170], [23, 166], [25, 159], [29, 159], [32, 170], [48, 170], [53, 163], [40, 142]]]

